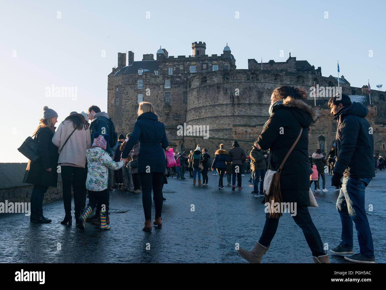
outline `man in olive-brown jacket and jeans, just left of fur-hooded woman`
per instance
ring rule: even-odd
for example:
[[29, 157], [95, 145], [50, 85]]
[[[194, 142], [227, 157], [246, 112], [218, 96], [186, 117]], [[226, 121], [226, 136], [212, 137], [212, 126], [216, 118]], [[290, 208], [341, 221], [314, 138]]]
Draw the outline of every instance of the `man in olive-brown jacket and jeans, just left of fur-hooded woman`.
[[[249, 153], [251, 157], [251, 170], [252, 170], [252, 178], [253, 178], [253, 191], [255, 197], [264, 196], [263, 192], [263, 183], [264, 183], [264, 175], [266, 169], [266, 158], [267, 154], [264, 154], [264, 151], [261, 150], [257, 141], [253, 144], [251, 153]], [[260, 191], [259, 191], [259, 181], [260, 183]]]

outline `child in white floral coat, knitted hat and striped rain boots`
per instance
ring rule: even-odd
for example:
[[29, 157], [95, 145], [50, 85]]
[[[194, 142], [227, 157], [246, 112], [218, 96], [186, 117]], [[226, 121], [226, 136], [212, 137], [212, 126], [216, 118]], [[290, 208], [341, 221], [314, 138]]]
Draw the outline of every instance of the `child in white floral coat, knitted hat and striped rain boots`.
[[110, 226], [106, 224], [108, 168], [112, 170], [120, 169], [124, 165], [124, 161], [113, 161], [105, 151], [108, 140], [110, 140], [109, 135], [103, 136], [95, 132], [93, 145], [86, 150], [88, 163], [86, 188], [89, 201], [83, 215], [78, 220], [78, 227], [83, 231], [86, 219], [95, 206], [100, 212], [100, 230], [110, 229]]

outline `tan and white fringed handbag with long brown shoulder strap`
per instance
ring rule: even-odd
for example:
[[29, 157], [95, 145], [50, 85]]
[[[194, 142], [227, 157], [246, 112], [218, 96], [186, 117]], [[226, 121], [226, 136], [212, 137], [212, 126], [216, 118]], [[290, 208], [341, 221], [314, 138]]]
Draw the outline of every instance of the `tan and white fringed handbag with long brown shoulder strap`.
[[264, 202], [269, 203], [268, 217], [270, 218], [277, 219], [283, 215], [283, 213], [281, 212], [274, 212], [275, 202], [279, 202], [279, 203], [283, 202], [283, 197], [281, 196], [281, 191], [280, 191], [280, 172], [281, 172], [281, 169], [283, 169], [284, 163], [286, 162], [289, 154], [292, 152], [293, 148], [295, 148], [296, 143], [298, 143], [301, 132], [303, 132], [303, 128], [300, 129], [298, 138], [296, 138], [292, 147], [289, 149], [286, 157], [284, 157], [284, 160], [283, 162], [281, 162], [278, 171], [269, 169], [269, 165], [271, 164], [271, 156], [268, 160], [268, 170], [264, 177], [263, 185], [264, 185]]

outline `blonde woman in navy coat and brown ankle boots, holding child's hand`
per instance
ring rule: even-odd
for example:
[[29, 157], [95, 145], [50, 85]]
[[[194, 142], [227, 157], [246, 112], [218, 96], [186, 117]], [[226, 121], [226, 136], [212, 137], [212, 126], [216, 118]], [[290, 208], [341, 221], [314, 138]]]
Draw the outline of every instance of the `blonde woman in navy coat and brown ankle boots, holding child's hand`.
[[166, 170], [166, 159], [163, 148], [168, 147], [165, 125], [158, 121], [154, 107], [149, 102], [141, 102], [138, 107], [138, 118], [134, 130], [130, 135], [122, 159], [127, 162], [127, 155], [139, 140], [141, 148], [138, 155], [138, 173], [142, 185], [142, 204], [145, 213], [145, 226], [143, 231], [151, 231], [151, 191], [154, 194], [156, 215], [154, 225], [162, 227], [162, 180]]

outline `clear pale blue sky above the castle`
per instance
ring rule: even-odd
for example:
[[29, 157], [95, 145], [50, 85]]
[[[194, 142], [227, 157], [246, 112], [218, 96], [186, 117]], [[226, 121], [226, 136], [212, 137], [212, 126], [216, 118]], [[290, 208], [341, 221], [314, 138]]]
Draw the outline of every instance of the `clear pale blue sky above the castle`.
[[[93, 104], [107, 111], [107, 75], [118, 52], [131, 50], [139, 61], [161, 45], [169, 56], [188, 56], [191, 43], [203, 41], [210, 55], [221, 54], [228, 42], [237, 68], [245, 69], [247, 59], [285, 61], [292, 49], [298, 60], [321, 66], [323, 76], [337, 76], [339, 60], [340, 75], [352, 86], [370, 79], [372, 88], [386, 89], [385, 6], [358, 0], [2, 0], [0, 162], [27, 161], [17, 148], [32, 135], [44, 105], [58, 112], [59, 122]], [[47, 98], [52, 85], [77, 87], [77, 99]]]

